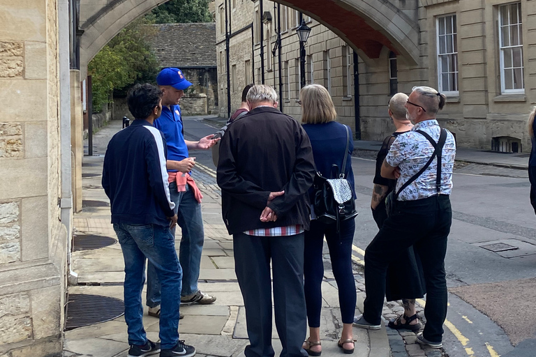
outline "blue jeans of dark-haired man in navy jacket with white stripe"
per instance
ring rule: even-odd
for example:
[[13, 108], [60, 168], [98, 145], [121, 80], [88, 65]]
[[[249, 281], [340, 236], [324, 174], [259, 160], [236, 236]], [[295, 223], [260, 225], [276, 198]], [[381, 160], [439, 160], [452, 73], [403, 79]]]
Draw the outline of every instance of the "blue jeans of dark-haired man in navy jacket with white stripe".
[[175, 252], [175, 241], [168, 227], [160, 225], [114, 224], [125, 259], [125, 321], [128, 344], [147, 342], [143, 328], [142, 289], [145, 258], [162, 282], [160, 340], [162, 349], [172, 349], [179, 340], [179, 305], [182, 271]]

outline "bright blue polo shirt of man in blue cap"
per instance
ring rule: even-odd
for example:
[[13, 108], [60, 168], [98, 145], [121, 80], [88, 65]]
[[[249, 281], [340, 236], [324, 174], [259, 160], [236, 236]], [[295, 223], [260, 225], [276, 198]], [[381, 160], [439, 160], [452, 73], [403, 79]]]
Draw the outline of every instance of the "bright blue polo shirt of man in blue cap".
[[[184, 132], [182, 129], [181, 108], [179, 105], [162, 107], [160, 118], [154, 121], [154, 126], [164, 133], [165, 142], [168, 144], [168, 160], [181, 161], [188, 158], [188, 148], [184, 141]], [[168, 170], [168, 172], [177, 172], [178, 170]]]

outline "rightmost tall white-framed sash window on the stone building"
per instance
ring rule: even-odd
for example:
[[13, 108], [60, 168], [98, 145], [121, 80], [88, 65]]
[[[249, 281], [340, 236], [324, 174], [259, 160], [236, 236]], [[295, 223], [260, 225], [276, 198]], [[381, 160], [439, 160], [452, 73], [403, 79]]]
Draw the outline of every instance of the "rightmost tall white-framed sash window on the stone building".
[[524, 93], [521, 3], [499, 7], [501, 93]]

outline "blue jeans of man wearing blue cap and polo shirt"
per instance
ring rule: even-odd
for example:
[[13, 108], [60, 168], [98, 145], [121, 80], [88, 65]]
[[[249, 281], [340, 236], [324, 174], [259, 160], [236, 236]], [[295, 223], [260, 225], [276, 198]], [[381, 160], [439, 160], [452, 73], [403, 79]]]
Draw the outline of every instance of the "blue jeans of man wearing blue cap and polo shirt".
[[[186, 185], [185, 192], [177, 191], [177, 183], [170, 183], [170, 196], [175, 204], [177, 224], [181, 227], [182, 238], [179, 248], [179, 261], [182, 267], [181, 296], [188, 296], [198, 291], [201, 252], [204, 233], [201, 204], [195, 199], [193, 190]], [[171, 233], [175, 236], [175, 229]], [[161, 287], [154, 267], [147, 266], [147, 306], [155, 307], [161, 303]]]

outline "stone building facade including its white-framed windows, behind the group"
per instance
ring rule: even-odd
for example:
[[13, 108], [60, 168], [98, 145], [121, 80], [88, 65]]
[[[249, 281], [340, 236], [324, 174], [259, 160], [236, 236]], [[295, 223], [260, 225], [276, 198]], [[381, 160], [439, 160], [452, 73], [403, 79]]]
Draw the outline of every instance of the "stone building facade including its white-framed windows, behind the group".
[[[377, 6], [389, 8], [395, 2], [377, 1]], [[309, 13], [302, 7], [311, 27], [306, 43], [306, 83], [329, 89], [338, 120], [350, 125], [357, 137], [383, 139], [392, 131], [387, 116], [392, 93], [410, 93], [415, 85], [427, 85], [447, 95], [438, 119], [456, 135], [459, 146], [530, 151], [526, 120], [536, 103], [536, 47], [530, 40], [536, 31], [536, 2], [421, 0], [398, 1], [396, 6], [419, 33], [417, 63], [385, 45], [377, 58], [362, 56], [359, 47], [346, 43], [321, 23], [326, 14]], [[262, 80], [260, 31], [265, 84], [278, 89], [278, 52], [275, 56], [271, 52], [277, 41], [279, 7], [281, 102], [283, 112], [299, 119], [299, 41], [295, 31], [299, 13], [267, 0], [262, 7], [261, 22], [259, 0], [216, 1], [219, 114], [228, 115], [228, 90], [232, 112], [239, 105], [244, 85]], [[230, 33], [229, 68], [225, 13]], [[354, 50], [359, 56], [354, 56]], [[358, 66], [354, 66], [356, 59]]]

